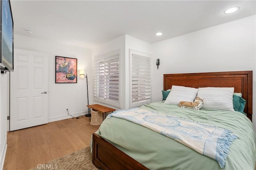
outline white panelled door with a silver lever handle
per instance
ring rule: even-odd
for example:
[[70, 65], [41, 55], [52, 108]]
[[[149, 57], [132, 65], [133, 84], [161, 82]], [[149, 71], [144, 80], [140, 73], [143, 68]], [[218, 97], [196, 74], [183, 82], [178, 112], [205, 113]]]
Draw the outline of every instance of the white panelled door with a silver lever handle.
[[14, 49], [10, 131], [48, 123], [48, 54]]

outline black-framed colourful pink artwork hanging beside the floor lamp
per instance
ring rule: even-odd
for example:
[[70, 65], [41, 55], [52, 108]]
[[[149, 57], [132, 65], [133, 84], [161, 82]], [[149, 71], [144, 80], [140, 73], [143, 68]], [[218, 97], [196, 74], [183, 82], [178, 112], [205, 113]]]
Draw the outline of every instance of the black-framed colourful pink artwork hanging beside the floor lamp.
[[77, 59], [55, 56], [55, 83], [77, 83]]

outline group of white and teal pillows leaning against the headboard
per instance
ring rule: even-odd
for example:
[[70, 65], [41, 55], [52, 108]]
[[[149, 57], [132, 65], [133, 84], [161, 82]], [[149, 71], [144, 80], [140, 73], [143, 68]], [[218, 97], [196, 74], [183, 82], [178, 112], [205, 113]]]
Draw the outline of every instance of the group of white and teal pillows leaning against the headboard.
[[241, 93], [234, 93], [231, 87], [191, 88], [172, 86], [171, 91], [162, 91], [166, 104], [178, 105], [180, 101], [194, 102], [195, 96], [204, 99], [202, 108], [239, 111], [243, 113], [246, 101]]

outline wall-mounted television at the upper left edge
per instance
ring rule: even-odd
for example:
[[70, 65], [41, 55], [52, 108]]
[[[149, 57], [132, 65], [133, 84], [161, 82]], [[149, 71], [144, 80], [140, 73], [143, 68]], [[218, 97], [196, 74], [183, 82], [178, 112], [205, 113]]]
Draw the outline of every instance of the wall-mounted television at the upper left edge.
[[13, 71], [13, 19], [10, 0], [1, 0], [0, 68]]

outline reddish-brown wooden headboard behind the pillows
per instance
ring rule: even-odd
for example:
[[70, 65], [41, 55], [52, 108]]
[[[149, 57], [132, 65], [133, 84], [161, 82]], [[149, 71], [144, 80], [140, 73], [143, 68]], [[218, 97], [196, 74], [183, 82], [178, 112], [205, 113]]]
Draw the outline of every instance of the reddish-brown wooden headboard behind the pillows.
[[172, 85], [187, 87], [234, 87], [246, 100], [244, 112], [252, 121], [252, 71], [164, 74], [164, 90]]

